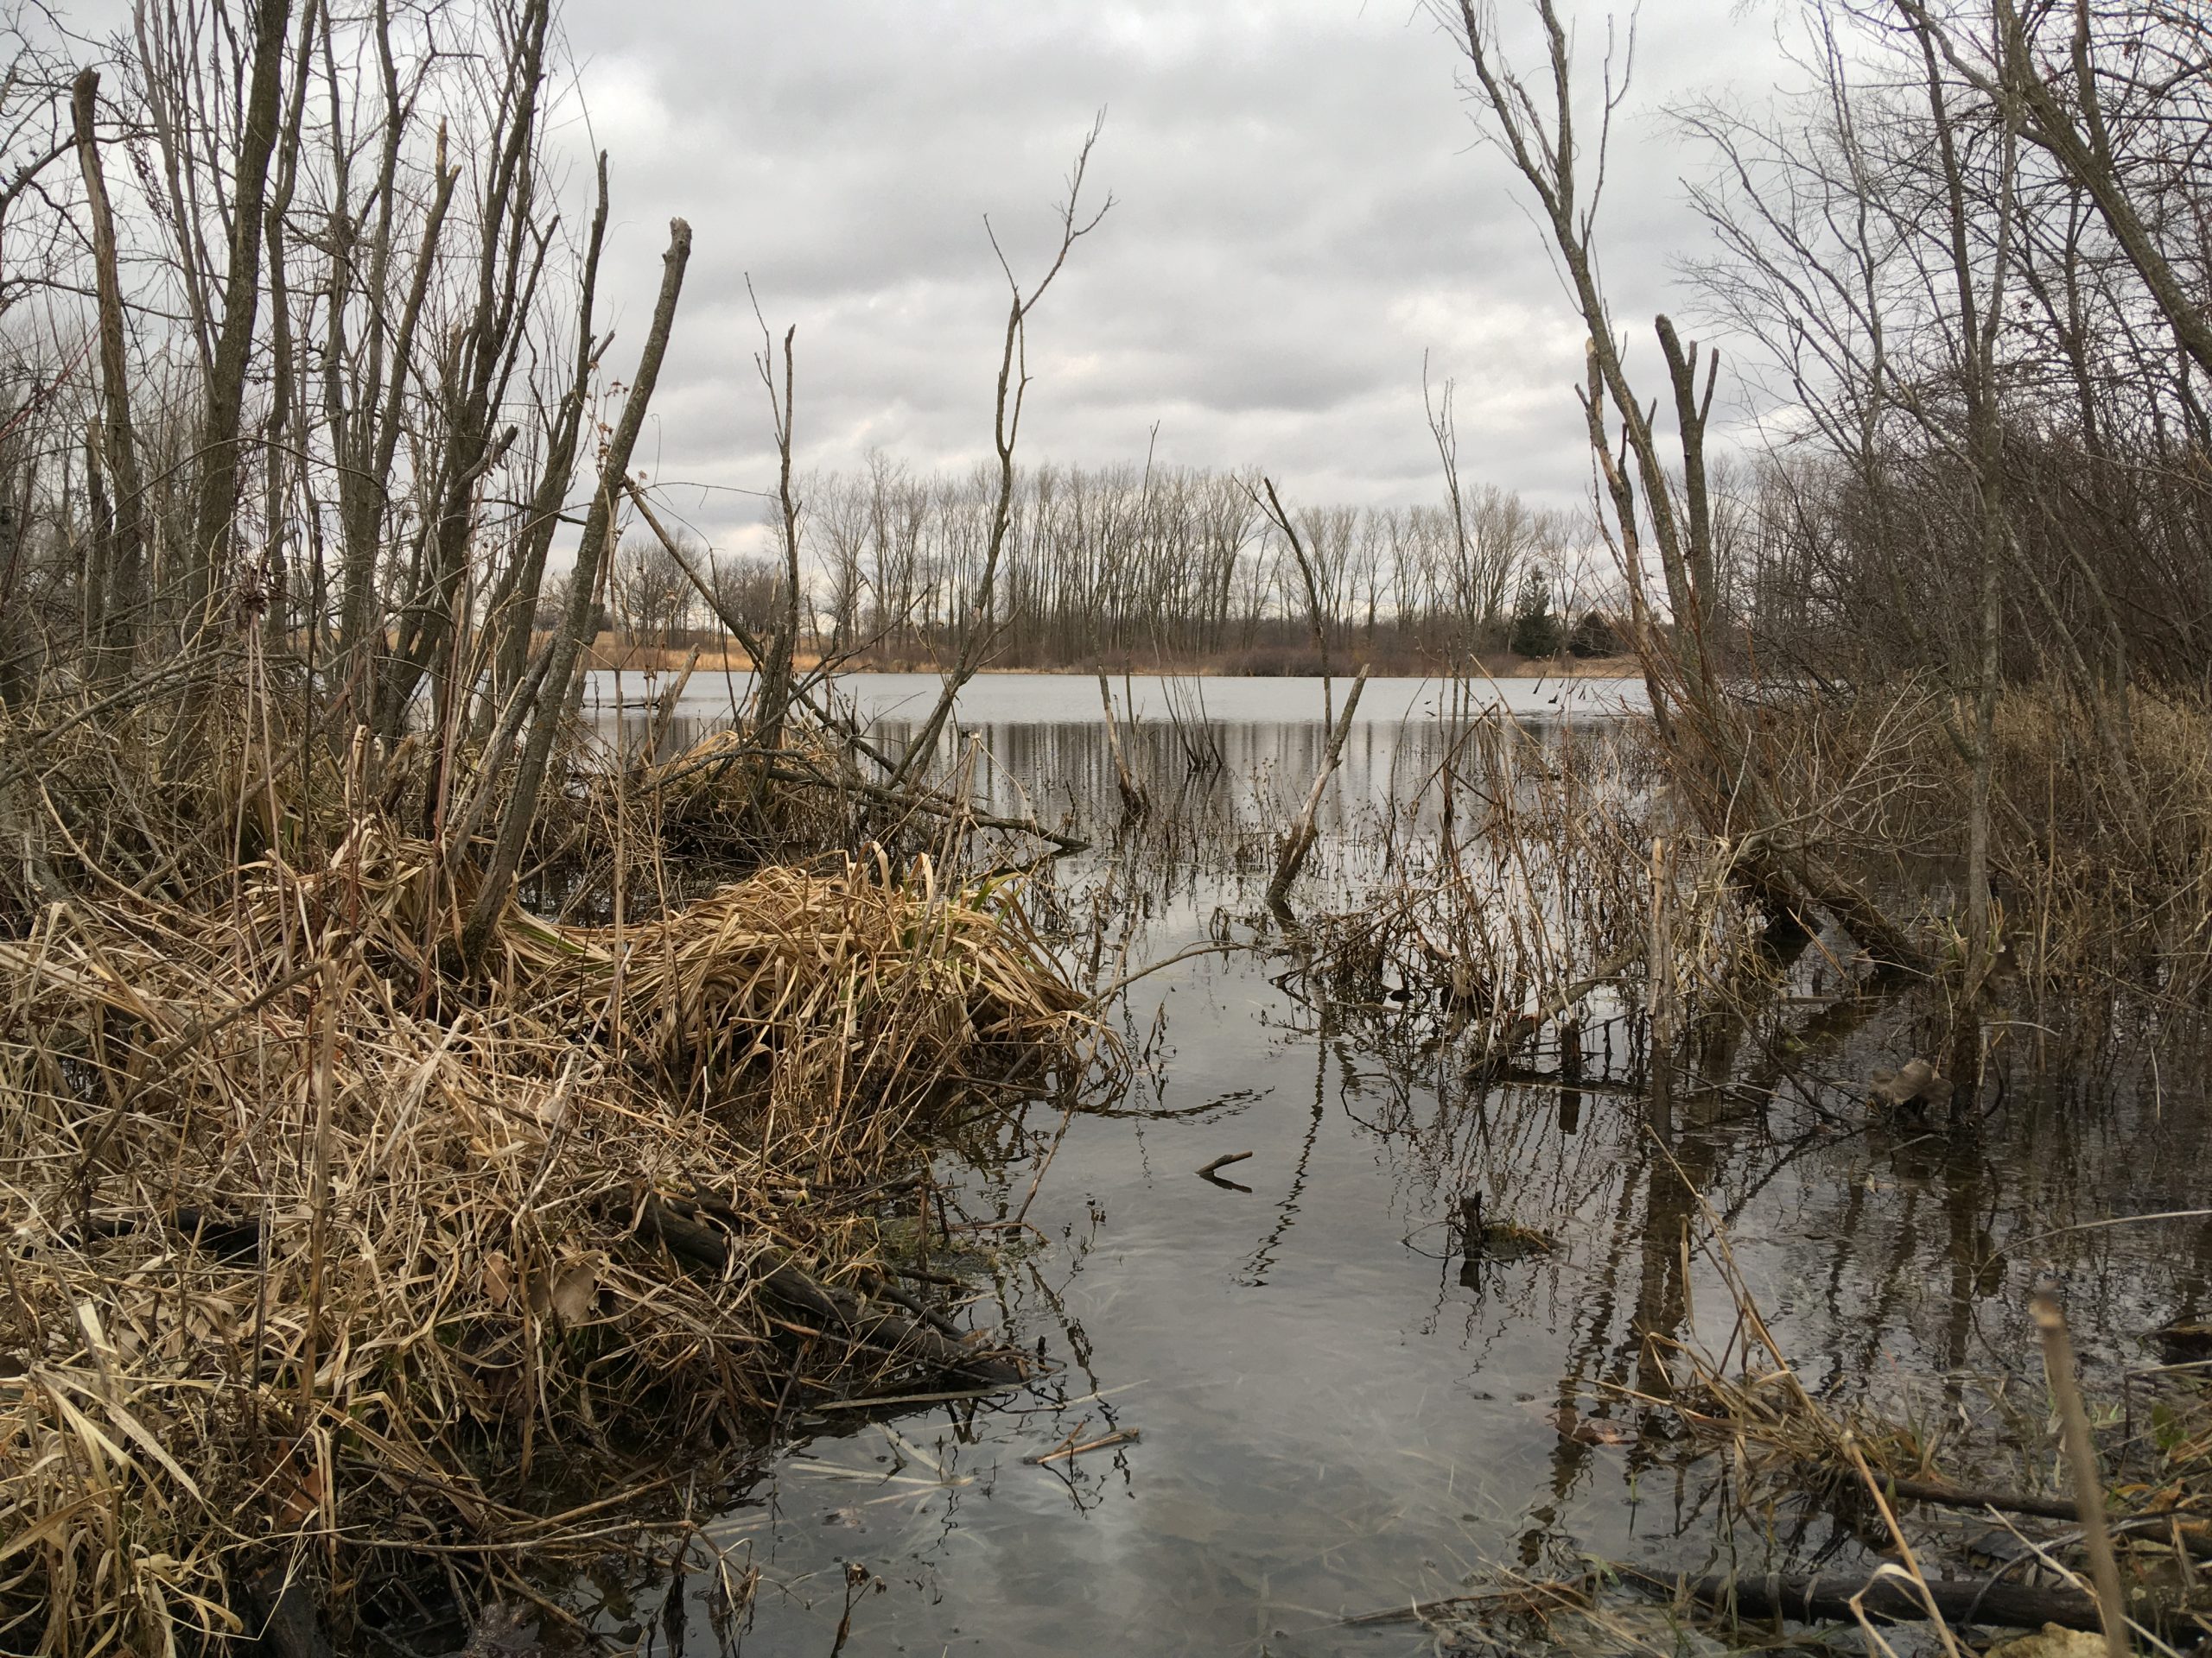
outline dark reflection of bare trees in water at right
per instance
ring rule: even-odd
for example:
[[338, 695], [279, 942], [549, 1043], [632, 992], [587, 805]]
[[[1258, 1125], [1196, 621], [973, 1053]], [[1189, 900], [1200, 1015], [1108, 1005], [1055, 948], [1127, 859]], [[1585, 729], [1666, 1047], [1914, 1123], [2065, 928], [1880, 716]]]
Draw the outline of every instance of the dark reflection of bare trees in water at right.
[[[1316, 1017], [1327, 1015], [1316, 1008]], [[1712, 1026], [1694, 1032], [1688, 1063], [1670, 1077], [1639, 1054], [1646, 1035], [1621, 1015], [1606, 1024], [1628, 1066], [1593, 1052], [1604, 1043], [1599, 1028], [1571, 1028], [1573, 1052], [1555, 1043], [1548, 1074], [1462, 1092], [1433, 1046], [1391, 1041], [1380, 1021], [1352, 1019], [1340, 1021], [1340, 1041], [1358, 1048], [1365, 1085], [1347, 1090], [1345, 1112], [1394, 1150], [1409, 1209], [1438, 1216], [1458, 1192], [1480, 1187], [1493, 1211], [1559, 1225], [1575, 1240], [1573, 1282], [1555, 1284], [1548, 1300], [1564, 1337], [1555, 1406], [1617, 1415], [1626, 1404], [1604, 1404], [1617, 1391], [1663, 1402], [1677, 1379], [1663, 1362], [1668, 1344], [1728, 1346], [1732, 1304], [1699, 1265], [1710, 1205], [1739, 1238], [1739, 1260], [1809, 1384], [1836, 1404], [1887, 1408], [1909, 1406], [1905, 1395], [1929, 1386], [1953, 1415], [1980, 1408], [1989, 1452], [2004, 1424], [1986, 1395], [2006, 1375], [2033, 1379], [2033, 1346], [2017, 1329], [2024, 1271], [2002, 1238], [2035, 1236], [2048, 1265], [2075, 1273], [2084, 1326], [2143, 1331], [2205, 1295], [2212, 1227], [2192, 1229], [2194, 1253], [2179, 1280], [2141, 1240], [2130, 1253], [2108, 1231], [2051, 1236], [2108, 1205], [2154, 1207], [2137, 1189], [2146, 1141], [2185, 1147], [2163, 1180], [2177, 1187], [2172, 1207], [2190, 1207], [2185, 1194], [2203, 1169], [2201, 1138], [2190, 1132], [2201, 1103], [2161, 1121], [2143, 1077], [2115, 1070], [2106, 1048], [2106, 1063], [2064, 1068], [2048, 1085], [2015, 1081], [2002, 1134], [1978, 1121], [1874, 1119], [1851, 1079], [1911, 1039], [1905, 1019], [1896, 1001], [1860, 995], [1809, 1017]], [[1588, 1114], [1593, 1101], [1599, 1110]], [[1473, 1373], [1489, 1342], [1511, 1340], [1506, 1322], [1482, 1322], [1500, 1293], [1513, 1318], [1546, 1311], [1526, 1291], [1515, 1300], [1515, 1282], [1528, 1273], [1475, 1273], [1458, 1284], [1471, 1284], [1462, 1340]], [[1440, 1273], [1438, 1311], [1453, 1289]], [[1725, 1463], [1668, 1444], [1668, 1415], [1657, 1406], [1635, 1415], [1641, 1435], [1626, 1452], [1562, 1435], [1548, 1499], [1515, 1545], [1522, 1563], [1573, 1559], [1573, 1497], [1608, 1455], [1624, 1457], [1639, 1483], [1672, 1475], [1672, 1530], [1705, 1536], [1717, 1561], [1732, 1559], [1743, 1543], [1734, 1536], [1741, 1492]], [[1770, 1539], [1796, 1563], [1867, 1541], [1860, 1517], [1809, 1501], [1781, 1514]]]

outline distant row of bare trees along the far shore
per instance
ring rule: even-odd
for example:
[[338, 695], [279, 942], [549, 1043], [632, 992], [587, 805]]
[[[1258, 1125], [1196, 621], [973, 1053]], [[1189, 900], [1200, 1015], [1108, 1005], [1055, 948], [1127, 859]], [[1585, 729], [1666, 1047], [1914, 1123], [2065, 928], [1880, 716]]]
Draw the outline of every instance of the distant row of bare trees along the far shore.
[[[812, 648], [858, 665], [933, 665], [980, 623], [1009, 668], [1314, 672], [1323, 654], [1449, 668], [1571, 643], [1619, 650], [1601, 617], [1617, 584], [1593, 566], [1573, 513], [1486, 484], [1429, 506], [1310, 506], [1294, 513], [1294, 553], [1256, 478], [1197, 466], [1022, 469], [993, 610], [978, 619], [993, 489], [987, 469], [922, 473], [880, 453], [863, 471], [803, 480]], [[624, 542], [606, 628], [659, 646], [719, 639], [686, 562], [752, 632], [774, 623], [783, 562], [679, 548]], [[544, 621], [562, 597], [555, 577]], [[1588, 626], [1577, 634], [1577, 623]]]

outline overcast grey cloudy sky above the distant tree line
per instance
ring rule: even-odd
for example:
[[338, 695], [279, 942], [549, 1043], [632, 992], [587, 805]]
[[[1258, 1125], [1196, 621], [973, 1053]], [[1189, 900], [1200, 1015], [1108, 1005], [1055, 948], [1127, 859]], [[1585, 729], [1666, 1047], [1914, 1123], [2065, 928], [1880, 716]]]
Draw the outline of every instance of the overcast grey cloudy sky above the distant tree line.
[[[1513, 0], [1506, 0], [1511, 13]], [[1601, 53], [1604, 11], [1579, 9]], [[1502, 157], [1475, 146], [1451, 42], [1416, 0], [568, 0], [591, 135], [611, 150], [626, 378], [666, 221], [695, 252], [655, 398], [664, 484], [772, 482], [759, 329], [799, 325], [799, 464], [880, 447], [989, 453], [1006, 290], [1106, 111], [1091, 186], [1115, 208], [1031, 327], [1024, 460], [1265, 466], [1301, 502], [1436, 493], [1422, 354], [1460, 382], [1462, 469], [1577, 504], [1582, 329]], [[1661, 111], [1759, 97], [1774, 9], [1650, 0], [1604, 248], [1617, 314], [1681, 305], [1699, 245]], [[728, 535], [745, 497], [677, 489]]]

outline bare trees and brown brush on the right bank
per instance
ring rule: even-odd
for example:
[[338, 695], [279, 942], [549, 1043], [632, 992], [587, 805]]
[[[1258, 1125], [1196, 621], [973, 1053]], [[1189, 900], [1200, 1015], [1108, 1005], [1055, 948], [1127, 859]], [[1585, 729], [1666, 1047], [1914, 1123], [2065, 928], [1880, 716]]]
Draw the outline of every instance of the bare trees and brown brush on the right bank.
[[[2135, 117], [2205, 97], [2201, 27], [1820, 11], [1803, 104], [1688, 113], [1714, 153], [1705, 292], [1803, 416], [1745, 475], [1705, 449], [1717, 354], [1655, 318], [1668, 396], [1644, 398], [1597, 281], [1624, 60], [1577, 64], [1553, 0], [1526, 18], [1528, 77], [1491, 7], [1453, 31], [1588, 327], [1601, 528], [1712, 856], [1763, 909], [1949, 984], [1969, 1088], [2008, 953], [2194, 997], [2212, 707], [2181, 592], [2212, 570], [2212, 360], [2177, 298], [2201, 248], [2159, 228], [2205, 195], [2183, 126]], [[1922, 889], [1907, 853], [1955, 860], [1927, 926], [1898, 902]]]

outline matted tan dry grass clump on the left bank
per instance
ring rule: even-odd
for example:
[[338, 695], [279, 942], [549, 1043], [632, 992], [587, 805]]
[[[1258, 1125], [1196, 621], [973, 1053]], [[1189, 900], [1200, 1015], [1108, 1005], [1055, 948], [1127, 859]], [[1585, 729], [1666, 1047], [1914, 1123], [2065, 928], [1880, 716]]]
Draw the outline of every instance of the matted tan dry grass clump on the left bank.
[[553, 1446], [1004, 1379], [883, 1216], [920, 1119], [1099, 1059], [1013, 891], [874, 860], [513, 909], [473, 975], [465, 909], [365, 827], [228, 915], [0, 942], [0, 1649], [164, 1651], [285, 1561], [343, 1623], [394, 1552], [588, 1543], [606, 1510], [529, 1508]]

